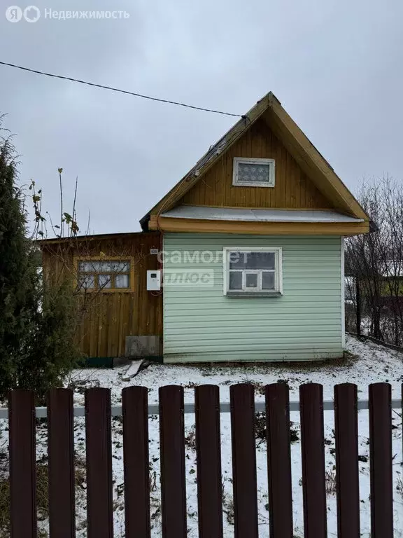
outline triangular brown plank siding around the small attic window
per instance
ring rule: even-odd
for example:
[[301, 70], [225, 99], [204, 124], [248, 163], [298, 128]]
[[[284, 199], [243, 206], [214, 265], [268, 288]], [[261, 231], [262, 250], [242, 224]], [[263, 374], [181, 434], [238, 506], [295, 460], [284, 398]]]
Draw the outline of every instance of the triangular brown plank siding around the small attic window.
[[[234, 157], [274, 158], [276, 186], [274, 188], [233, 186]], [[320, 193], [262, 119], [257, 120], [200, 178], [179, 204], [277, 209], [333, 208], [332, 203]]]

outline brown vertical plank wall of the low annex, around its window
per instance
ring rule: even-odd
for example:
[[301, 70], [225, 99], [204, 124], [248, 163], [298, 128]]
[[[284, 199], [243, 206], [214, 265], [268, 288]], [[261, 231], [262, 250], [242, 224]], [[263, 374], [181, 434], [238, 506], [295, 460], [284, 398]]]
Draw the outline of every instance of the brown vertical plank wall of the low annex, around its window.
[[43, 244], [43, 270], [52, 280], [72, 277], [73, 257], [133, 256], [134, 291], [82, 294], [85, 313], [78, 328], [80, 350], [87, 357], [122, 357], [126, 336], [162, 337], [162, 294], [146, 289], [147, 270], [158, 268], [160, 233], [113, 234], [113, 237], [72, 239]]

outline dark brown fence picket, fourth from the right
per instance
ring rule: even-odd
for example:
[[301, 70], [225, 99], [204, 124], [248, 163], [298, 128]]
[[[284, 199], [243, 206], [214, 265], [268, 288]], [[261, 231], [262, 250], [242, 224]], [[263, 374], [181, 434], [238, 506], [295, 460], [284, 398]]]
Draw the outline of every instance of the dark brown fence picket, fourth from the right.
[[265, 392], [270, 538], [292, 538], [290, 390], [274, 383]]

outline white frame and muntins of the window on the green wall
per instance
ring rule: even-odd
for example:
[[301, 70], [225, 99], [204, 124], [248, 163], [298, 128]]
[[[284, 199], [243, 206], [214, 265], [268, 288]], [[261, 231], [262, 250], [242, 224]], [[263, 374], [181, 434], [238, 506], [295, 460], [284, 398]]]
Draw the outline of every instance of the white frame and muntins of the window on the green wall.
[[[250, 254], [250, 252], [272, 252], [275, 256], [274, 262], [274, 289], [262, 289], [262, 272], [264, 269], [246, 269], [242, 276], [242, 289], [229, 289], [229, 254], [239, 252], [239, 254]], [[223, 283], [225, 296], [279, 296], [283, 295], [283, 248], [282, 247], [224, 247], [222, 249], [223, 260]], [[268, 270], [270, 271], [270, 270]], [[256, 289], [246, 288], [246, 273], [257, 273], [258, 286]]]

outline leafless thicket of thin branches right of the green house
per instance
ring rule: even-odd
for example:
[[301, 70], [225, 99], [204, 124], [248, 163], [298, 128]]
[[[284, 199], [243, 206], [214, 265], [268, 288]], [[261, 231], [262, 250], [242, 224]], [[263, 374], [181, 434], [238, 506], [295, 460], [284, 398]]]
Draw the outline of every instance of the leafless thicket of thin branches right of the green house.
[[[362, 185], [359, 200], [375, 231], [346, 242], [346, 275], [355, 288], [357, 332], [360, 310], [369, 333], [403, 343], [403, 188], [390, 177]], [[353, 293], [353, 290], [351, 290]]]

